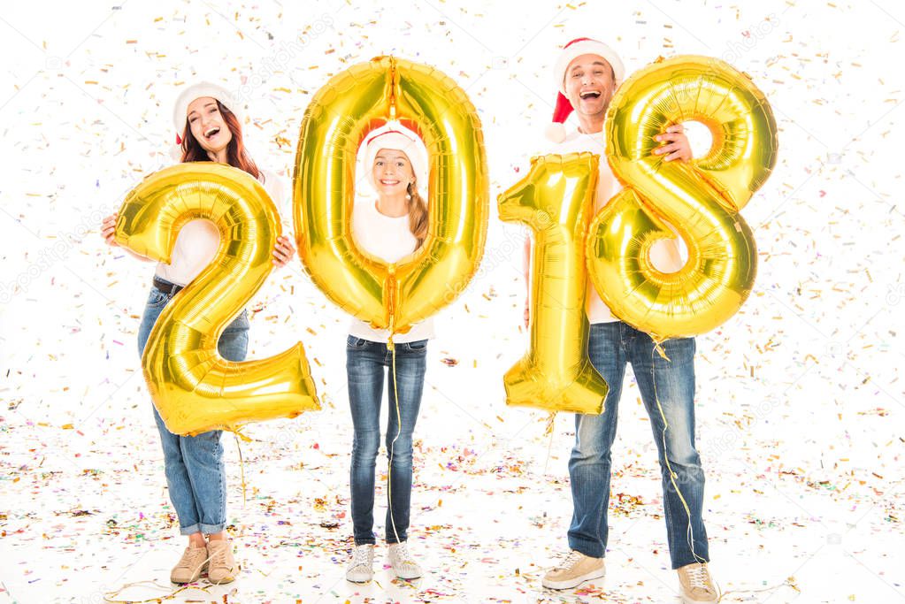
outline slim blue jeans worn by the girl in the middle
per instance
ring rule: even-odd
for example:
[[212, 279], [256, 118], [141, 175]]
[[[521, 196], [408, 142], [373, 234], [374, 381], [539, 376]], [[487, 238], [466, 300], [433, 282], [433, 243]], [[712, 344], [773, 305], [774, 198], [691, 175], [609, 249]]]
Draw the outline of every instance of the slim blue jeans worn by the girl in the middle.
[[380, 447], [380, 404], [383, 401], [384, 373], [387, 368], [389, 421], [386, 429], [386, 455], [390, 469], [386, 543], [402, 543], [408, 538], [412, 500], [412, 433], [424, 391], [427, 340], [395, 344], [395, 355], [398, 413], [393, 387], [393, 354], [386, 349], [386, 344], [354, 335], [348, 336], [348, 403], [355, 429], [349, 484], [352, 491], [352, 532], [356, 545], [375, 543], [374, 469], [377, 448]]

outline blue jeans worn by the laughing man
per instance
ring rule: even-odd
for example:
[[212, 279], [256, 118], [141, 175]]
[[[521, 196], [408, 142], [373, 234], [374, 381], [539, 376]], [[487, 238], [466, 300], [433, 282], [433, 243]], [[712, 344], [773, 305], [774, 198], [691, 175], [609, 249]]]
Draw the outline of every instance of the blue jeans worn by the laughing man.
[[610, 448], [616, 435], [625, 364], [632, 363], [657, 443], [666, 533], [672, 568], [677, 569], [691, 562], [708, 562], [710, 558], [701, 519], [704, 472], [694, 448], [695, 342], [694, 338], [675, 338], [662, 346], [669, 361], [654, 350], [649, 335], [621, 321], [591, 326], [588, 354], [610, 391], [603, 413], [576, 415], [575, 448], [568, 462], [574, 505], [568, 543], [571, 549], [587, 556], [605, 555]]

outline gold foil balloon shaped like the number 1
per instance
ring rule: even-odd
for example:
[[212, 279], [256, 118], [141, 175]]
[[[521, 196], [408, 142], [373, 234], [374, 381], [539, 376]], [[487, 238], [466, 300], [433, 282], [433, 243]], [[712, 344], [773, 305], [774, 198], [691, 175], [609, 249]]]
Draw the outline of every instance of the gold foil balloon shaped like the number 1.
[[600, 413], [608, 387], [587, 356], [585, 237], [599, 156], [533, 157], [500, 195], [500, 220], [535, 233], [529, 351], [507, 373], [506, 402], [549, 411]]

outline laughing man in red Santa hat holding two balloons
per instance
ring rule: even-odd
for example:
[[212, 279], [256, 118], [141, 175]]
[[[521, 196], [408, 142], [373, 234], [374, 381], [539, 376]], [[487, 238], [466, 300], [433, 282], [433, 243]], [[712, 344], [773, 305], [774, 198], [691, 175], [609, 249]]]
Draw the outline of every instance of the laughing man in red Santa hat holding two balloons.
[[[595, 210], [599, 210], [619, 189], [605, 160], [603, 130], [606, 109], [624, 79], [623, 62], [605, 43], [579, 38], [563, 49], [555, 77], [559, 90], [557, 109], [547, 131], [548, 138], [557, 143], [552, 152], [590, 151], [601, 156], [595, 201]], [[579, 128], [566, 136], [563, 122], [573, 110]], [[668, 127], [655, 139], [663, 145], [653, 153], [663, 155], [665, 161], [691, 158], [691, 147], [681, 125]], [[654, 266], [664, 272], [681, 269], [681, 245], [681, 239], [655, 244], [651, 250]], [[526, 241], [526, 260], [529, 253], [530, 242]], [[707, 569], [707, 533], [701, 520], [704, 474], [694, 448], [694, 338], [664, 342], [667, 361], [655, 351], [649, 335], [611, 314], [590, 279], [586, 312], [591, 323], [588, 355], [610, 391], [601, 415], [576, 415], [576, 443], [568, 464], [574, 508], [568, 530], [571, 552], [548, 571], [543, 585], [564, 590], [605, 575], [610, 448], [616, 433], [625, 365], [632, 363], [659, 451], [672, 568], [678, 571], [682, 598], [694, 604], [716, 602], [717, 592]], [[526, 303], [526, 323], [528, 317]]]

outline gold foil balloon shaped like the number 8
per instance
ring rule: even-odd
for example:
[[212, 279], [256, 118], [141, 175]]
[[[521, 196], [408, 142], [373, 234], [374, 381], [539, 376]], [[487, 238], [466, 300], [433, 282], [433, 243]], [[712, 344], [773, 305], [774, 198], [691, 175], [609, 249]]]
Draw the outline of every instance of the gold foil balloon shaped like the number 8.
[[[710, 129], [710, 152], [689, 163], [653, 155], [653, 137], [683, 121]], [[745, 302], [757, 272], [754, 236], [738, 211], [776, 163], [776, 121], [764, 94], [729, 64], [699, 56], [637, 71], [606, 112], [606, 154], [624, 190], [595, 216], [587, 264], [615, 316], [653, 339], [707, 332]], [[687, 243], [674, 273], [653, 267], [654, 241]]]

